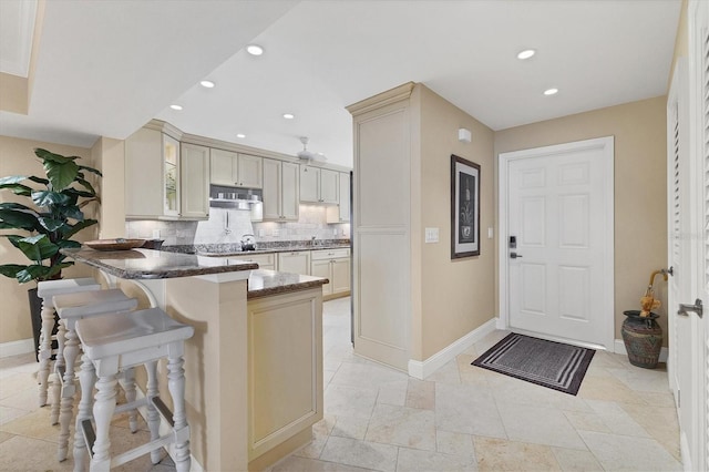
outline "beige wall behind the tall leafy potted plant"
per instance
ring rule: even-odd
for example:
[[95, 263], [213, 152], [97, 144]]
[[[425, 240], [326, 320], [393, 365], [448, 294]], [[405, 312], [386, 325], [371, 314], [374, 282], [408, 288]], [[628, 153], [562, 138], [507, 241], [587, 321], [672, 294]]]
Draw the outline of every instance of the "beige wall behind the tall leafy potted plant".
[[[78, 155], [81, 163], [92, 166], [91, 153], [83, 147], [65, 146], [61, 144], [20, 140], [0, 136], [0, 176], [37, 175], [43, 176], [44, 171], [40, 160], [34, 155], [34, 147], [43, 147], [63, 155]], [[0, 192], [0, 202], [21, 202], [27, 198], [16, 197], [12, 193]], [[95, 237], [93, 228], [81, 232], [78, 239]], [[0, 230], [0, 234], [21, 234], [16, 230]], [[0, 264], [27, 264], [28, 259], [16, 249], [6, 238], [0, 238]], [[64, 271], [64, 277], [85, 277], [91, 271], [88, 268], [73, 266]], [[0, 276], [0, 343], [28, 339], [32, 337], [32, 325], [29, 315], [27, 290], [37, 284], [18, 284], [14, 279]]]

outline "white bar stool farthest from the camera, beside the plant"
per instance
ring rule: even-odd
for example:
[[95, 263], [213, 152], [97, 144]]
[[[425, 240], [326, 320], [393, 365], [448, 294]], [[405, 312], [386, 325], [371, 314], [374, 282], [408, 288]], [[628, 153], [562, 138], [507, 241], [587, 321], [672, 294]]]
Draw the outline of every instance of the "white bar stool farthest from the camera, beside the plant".
[[[54, 328], [54, 296], [63, 294], [75, 294], [78, 291], [100, 290], [101, 285], [91, 278], [68, 278], [60, 280], [45, 280], [37, 284], [37, 295], [42, 299], [42, 330], [40, 334], [40, 346], [38, 358], [40, 370], [38, 381], [40, 384], [39, 400], [40, 407], [47, 404], [47, 390], [50, 373], [50, 361], [52, 359], [52, 329]], [[58, 338], [59, 342], [59, 338]], [[62, 349], [60, 347], [59, 349]], [[58, 362], [62, 360], [58, 359]]]

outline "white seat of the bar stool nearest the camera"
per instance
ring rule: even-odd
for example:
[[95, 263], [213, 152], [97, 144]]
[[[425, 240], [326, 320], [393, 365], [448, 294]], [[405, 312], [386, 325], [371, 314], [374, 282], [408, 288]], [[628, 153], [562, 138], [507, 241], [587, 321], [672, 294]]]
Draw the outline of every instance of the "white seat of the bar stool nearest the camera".
[[169, 318], [160, 308], [134, 311], [126, 317], [83, 319], [76, 334], [91, 359], [189, 339], [194, 328]]

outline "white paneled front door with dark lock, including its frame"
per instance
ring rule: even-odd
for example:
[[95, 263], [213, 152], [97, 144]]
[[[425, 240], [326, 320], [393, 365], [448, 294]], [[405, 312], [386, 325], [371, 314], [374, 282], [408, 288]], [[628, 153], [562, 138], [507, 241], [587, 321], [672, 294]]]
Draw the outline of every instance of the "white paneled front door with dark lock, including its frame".
[[613, 348], [613, 143], [500, 155], [501, 287], [511, 328]]

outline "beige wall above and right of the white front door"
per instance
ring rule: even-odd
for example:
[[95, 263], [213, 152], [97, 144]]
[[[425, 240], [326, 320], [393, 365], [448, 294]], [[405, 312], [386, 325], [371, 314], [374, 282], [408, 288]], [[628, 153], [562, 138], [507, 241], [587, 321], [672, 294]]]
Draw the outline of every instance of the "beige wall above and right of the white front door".
[[[624, 310], [639, 309], [650, 273], [667, 265], [666, 96], [610, 106], [495, 133], [495, 155], [615, 136], [615, 337]], [[666, 288], [659, 324], [667, 334]], [[667, 336], [665, 336], [667, 346]]]

